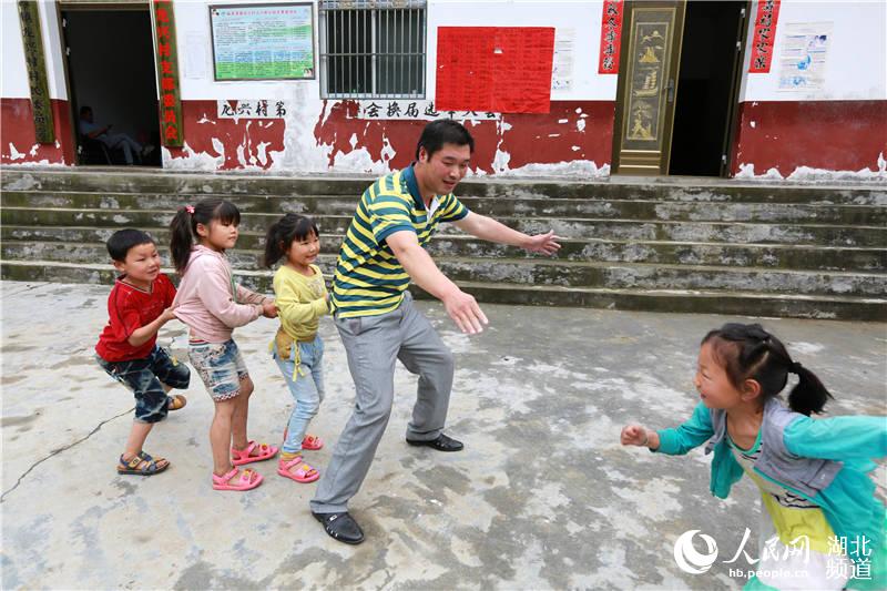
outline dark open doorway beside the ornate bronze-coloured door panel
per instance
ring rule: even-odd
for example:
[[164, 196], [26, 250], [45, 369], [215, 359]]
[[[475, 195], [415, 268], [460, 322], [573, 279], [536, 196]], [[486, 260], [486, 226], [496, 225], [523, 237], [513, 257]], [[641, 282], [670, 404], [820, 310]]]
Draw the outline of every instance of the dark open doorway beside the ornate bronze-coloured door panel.
[[726, 0], [686, 3], [669, 174], [725, 174], [746, 8]]

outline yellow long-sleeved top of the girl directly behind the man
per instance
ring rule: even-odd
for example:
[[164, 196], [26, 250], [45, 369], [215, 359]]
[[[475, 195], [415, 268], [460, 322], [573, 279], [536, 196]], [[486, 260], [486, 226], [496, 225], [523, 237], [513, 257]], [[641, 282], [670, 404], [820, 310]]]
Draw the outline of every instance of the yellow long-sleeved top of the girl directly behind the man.
[[[275, 342], [277, 354], [288, 358], [293, 342], [310, 343], [317, 336], [320, 316], [329, 314], [326, 284], [320, 267], [310, 265], [310, 277], [283, 265], [274, 274], [274, 295], [281, 328]], [[298, 349], [296, 349], [298, 356]], [[296, 361], [298, 366], [298, 361]]]

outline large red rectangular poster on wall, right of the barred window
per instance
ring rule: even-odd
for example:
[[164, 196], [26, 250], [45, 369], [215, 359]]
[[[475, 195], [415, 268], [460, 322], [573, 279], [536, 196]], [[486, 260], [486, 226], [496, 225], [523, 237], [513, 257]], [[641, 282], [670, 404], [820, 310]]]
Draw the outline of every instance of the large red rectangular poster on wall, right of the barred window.
[[440, 27], [438, 111], [548, 113], [554, 29]]

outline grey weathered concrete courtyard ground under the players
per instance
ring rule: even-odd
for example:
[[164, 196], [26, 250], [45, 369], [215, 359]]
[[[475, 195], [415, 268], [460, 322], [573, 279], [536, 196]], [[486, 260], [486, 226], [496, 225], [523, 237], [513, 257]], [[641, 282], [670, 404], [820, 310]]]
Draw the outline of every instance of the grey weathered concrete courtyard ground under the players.
[[[329, 539], [308, 512], [316, 485], [254, 465], [247, 493], [210, 487], [212, 403], [194, 374], [188, 406], [146, 449], [172, 467], [114, 470], [131, 395], [93, 360], [106, 286], [0, 284], [2, 294], [2, 588], [30, 589], [738, 589], [724, 563], [746, 528], [756, 554], [758, 502], [746, 479], [708, 493], [702, 450], [667, 458], [619, 445], [629, 421], [676, 425], [696, 404], [697, 343], [734, 317], [485, 306], [491, 324], [458, 333], [419, 304], [456, 354], [447, 432], [461, 454], [410, 448], [416, 378], [398, 367], [388, 431], [351, 511], [367, 541]], [[747, 319], [741, 319], [748, 322]], [[887, 327], [765, 319], [832, 389], [833, 415], [887, 414]], [[257, 385], [251, 437], [278, 442], [292, 399], [268, 357], [274, 320], [235, 332]], [[184, 351], [184, 326], [161, 344]], [[353, 386], [338, 336], [327, 343], [327, 400], [313, 424], [327, 447]], [[885, 470], [873, 475], [885, 492]], [[675, 563], [687, 530], [715, 538], [711, 571]]]

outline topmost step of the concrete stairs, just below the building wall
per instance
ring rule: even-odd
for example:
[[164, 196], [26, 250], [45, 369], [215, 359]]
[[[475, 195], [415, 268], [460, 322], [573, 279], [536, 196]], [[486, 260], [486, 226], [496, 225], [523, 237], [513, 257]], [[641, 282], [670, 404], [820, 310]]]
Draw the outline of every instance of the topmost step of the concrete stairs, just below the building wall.
[[[293, 177], [228, 174], [190, 174], [160, 170], [102, 171], [90, 167], [77, 170], [24, 171], [3, 167], [4, 192], [86, 192], [164, 194], [185, 197], [207, 195], [269, 195], [298, 197], [310, 195], [339, 195], [356, 197], [373, 182], [370, 177], [351, 179], [326, 175], [323, 177]], [[720, 179], [622, 179], [609, 181], [527, 181], [527, 180], [467, 180], [459, 184], [460, 197], [503, 198], [581, 198], [581, 200], [652, 200], [701, 201], [706, 203], [799, 203], [808, 205], [878, 205], [887, 206], [884, 186], [847, 185], [765, 185]], [[180, 202], [181, 203], [181, 202]]]

